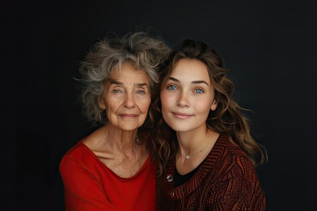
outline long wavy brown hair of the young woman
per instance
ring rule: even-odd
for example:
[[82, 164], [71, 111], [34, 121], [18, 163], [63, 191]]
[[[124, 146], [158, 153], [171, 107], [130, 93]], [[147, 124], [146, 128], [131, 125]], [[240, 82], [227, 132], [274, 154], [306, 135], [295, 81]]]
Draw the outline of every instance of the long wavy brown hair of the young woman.
[[[234, 82], [227, 78], [220, 55], [202, 41], [184, 40], [178, 50], [175, 50], [167, 61], [160, 75], [159, 83], [154, 92], [154, 102], [150, 108], [150, 118], [153, 124], [152, 140], [159, 151], [159, 168], [157, 173], [164, 172], [168, 160], [175, 156], [178, 148], [176, 132], [170, 128], [162, 116], [160, 92], [180, 59], [196, 59], [207, 65], [210, 81], [215, 89], [218, 101], [216, 110], [210, 110], [206, 120], [209, 130], [226, 135], [229, 140], [240, 146], [250, 157], [254, 165], [265, 160], [266, 151], [250, 135], [248, 119], [242, 115], [241, 108], [234, 100]], [[256, 161], [257, 155], [259, 160]]]

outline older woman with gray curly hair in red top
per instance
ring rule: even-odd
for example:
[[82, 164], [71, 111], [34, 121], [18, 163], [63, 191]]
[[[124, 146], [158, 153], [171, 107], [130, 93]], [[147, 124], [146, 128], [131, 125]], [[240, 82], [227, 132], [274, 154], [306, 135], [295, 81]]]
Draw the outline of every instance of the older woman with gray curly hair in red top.
[[155, 154], [142, 128], [169, 52], [145, 32], [91, 48], [80, 68], [81, 97], [89, 120], [104, 125], [61, 161], [66, 210], [155, 210]]

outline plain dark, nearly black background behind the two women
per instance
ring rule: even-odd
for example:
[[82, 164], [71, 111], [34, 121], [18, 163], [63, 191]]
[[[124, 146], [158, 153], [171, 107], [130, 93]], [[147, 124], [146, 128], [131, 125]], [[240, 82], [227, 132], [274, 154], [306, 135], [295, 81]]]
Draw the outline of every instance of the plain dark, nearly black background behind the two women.
[[268, 153], [267, 210], [316, 208], [316, 1], [1, 2], [2, 210], [64, 210], [59, 162], [95, 128], [76, 99], [78, 61], [98, 38], [153, 27], [171, 47], [222, 55]]

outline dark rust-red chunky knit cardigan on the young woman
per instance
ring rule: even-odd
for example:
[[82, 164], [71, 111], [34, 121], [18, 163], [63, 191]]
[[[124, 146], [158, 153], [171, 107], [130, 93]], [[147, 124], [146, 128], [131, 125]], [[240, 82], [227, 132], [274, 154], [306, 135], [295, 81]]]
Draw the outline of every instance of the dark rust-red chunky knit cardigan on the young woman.
[[218, 138], [206, 160], [183, 185], [174, 188], [175, 157], [157, 179], [157, 210], [265, 209], [265, 195], [248, 155], [225, 136]]

